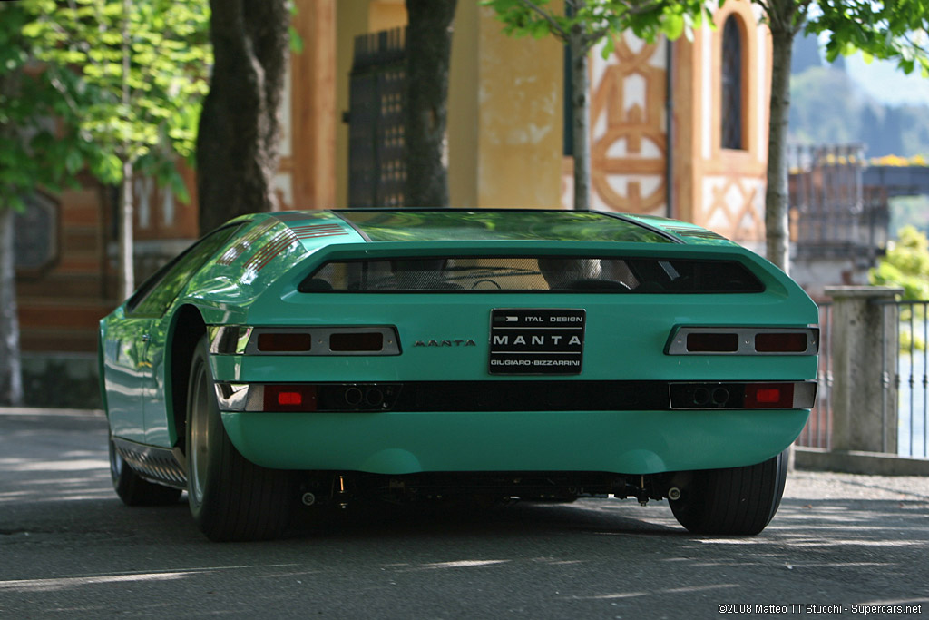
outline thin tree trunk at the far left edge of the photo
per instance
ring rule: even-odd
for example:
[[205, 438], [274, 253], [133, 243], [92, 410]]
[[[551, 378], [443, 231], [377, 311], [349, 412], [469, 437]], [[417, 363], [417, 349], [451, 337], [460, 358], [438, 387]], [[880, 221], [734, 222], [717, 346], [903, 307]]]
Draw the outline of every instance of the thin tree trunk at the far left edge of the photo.
[[13, 264], [13, 209], [0, 206], [0, 403], [22, 404], [20, 323]]

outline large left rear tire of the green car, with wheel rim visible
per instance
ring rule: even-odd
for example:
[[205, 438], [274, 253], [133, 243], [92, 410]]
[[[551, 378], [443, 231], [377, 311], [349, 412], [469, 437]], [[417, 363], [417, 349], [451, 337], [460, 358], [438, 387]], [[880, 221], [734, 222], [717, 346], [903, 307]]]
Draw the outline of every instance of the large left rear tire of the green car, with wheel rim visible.
[[245, 459], [223, 428], [206, 336], [190, 362], [187, 404], [187, 495], [190, 514], [210, 540], [268, 540], [290, 520], [292, 472]]

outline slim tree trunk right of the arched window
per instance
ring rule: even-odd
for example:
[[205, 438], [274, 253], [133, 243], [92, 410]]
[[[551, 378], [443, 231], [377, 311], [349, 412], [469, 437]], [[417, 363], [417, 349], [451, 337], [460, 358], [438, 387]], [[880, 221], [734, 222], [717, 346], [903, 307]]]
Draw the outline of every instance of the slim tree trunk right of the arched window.
[[787, 184], [787, 124], [791, 112], [791, 51], [793, 30], [772, 20], [771, 103], [767, 135], [765, 235], [767, 259], [790, 270], [790, 226]]

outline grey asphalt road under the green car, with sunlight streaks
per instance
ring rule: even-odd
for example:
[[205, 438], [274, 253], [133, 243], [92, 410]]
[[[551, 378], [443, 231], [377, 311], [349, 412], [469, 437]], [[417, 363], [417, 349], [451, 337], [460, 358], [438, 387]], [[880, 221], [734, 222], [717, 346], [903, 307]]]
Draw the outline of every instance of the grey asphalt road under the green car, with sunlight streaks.
[[0, 412], [0, 616], [929, 616], [926, 478], [794, 472], [751, 538], [610, 499], [349, 508], [282, 540], [216, 544], [185, 503], [122, 505], [105, 429]]

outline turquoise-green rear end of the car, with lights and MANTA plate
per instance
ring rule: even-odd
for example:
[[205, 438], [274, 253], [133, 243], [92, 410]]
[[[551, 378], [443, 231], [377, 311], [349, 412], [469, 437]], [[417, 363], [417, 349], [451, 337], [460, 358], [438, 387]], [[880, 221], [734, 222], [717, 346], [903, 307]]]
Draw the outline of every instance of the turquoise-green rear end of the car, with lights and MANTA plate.
[[628, 477], [783, 451], [817, 320], [734, 244], [384, 241], [319, 248], [209, 336], [260, 466]]

